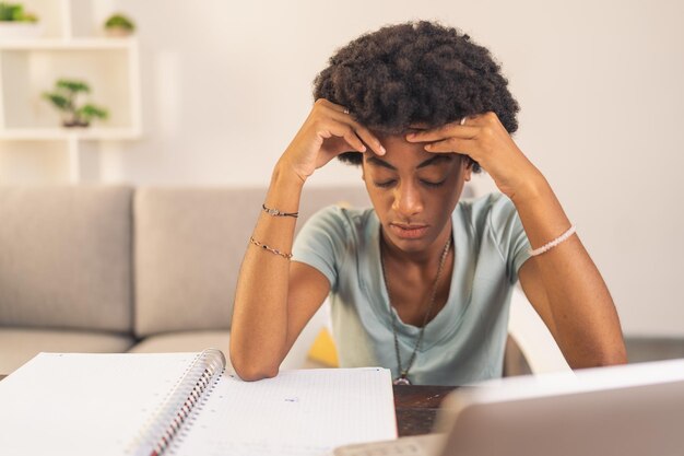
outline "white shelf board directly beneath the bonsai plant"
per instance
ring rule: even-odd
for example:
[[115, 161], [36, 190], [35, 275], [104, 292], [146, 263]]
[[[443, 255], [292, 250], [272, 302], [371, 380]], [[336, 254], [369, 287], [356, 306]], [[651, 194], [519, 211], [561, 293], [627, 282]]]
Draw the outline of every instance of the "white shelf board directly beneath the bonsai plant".
[[135, 128], [92, 127], [69, 130], [66, 128], [13, 128], [0, 130], [0, 141], [62, 141], [62, 140], [131, 140], [140, 139]]

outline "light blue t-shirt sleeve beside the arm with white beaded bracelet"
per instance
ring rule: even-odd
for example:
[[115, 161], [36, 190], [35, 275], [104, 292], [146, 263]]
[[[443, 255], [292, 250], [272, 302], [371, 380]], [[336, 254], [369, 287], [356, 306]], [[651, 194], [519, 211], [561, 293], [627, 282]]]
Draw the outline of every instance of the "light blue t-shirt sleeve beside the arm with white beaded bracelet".
[[506, 196], [495, 197], [490, 215], [491, 232], [506, 261], [506, 273], [510, 283], [516, 283], [520, 267], [530, 258], [530, 241], [516, 207]]

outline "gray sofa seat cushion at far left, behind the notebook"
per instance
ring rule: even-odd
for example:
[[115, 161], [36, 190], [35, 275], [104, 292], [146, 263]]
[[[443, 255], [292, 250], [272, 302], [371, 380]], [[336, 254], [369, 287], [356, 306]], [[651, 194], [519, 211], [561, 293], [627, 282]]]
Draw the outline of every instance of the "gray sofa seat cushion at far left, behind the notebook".
[[120, 353], [133, 344], [126, 335], [59, 329], [0, 328], [0, 375], [7, 375], [42, 351]]

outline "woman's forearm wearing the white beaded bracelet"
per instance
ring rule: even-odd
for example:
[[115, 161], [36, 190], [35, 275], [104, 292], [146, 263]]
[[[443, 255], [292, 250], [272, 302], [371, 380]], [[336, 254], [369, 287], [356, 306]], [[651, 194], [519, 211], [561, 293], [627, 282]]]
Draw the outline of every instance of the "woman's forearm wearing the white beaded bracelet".
[[[512, 201], [532, 248], [570, 227], [558, 199], [539, 173]], [[608, 287], [577, 235], [534, 257], [547, 296], [546, 321], [573, 367], [626, 361], [620, 320]]]

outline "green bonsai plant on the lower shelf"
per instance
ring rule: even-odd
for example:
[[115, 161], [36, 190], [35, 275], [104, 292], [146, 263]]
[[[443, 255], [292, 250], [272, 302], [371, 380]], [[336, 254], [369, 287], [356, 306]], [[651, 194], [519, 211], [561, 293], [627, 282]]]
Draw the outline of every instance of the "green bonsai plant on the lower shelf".
[[90, 85], [83, 81], [60, 79], [55, 83], [52, 92], [45, 92], [43, 97], [64, 113], [62, 125], [64, 127], [87, 127], [93, 119], [106, 119], [109, 115], [107, 109], [93, 105], [80, 105], [81, 94], [91, 92]]

